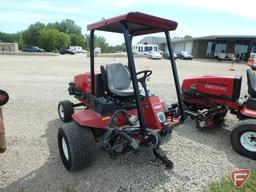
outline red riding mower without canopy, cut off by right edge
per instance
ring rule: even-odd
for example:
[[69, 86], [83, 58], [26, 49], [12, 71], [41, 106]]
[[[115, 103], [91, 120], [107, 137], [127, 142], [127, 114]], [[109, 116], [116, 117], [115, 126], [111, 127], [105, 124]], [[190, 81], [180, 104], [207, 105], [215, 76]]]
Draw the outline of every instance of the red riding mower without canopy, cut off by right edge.
[[248, 94], [240, 98], [241, 76], [201, 76], [182, 83], [186, 114], [197, 127], [214, 127], [223, 122], [228, 110], [240, 122], [232, 129], [231, 144], [241, 155], [256, 159], [256, 76], [247, 69]]

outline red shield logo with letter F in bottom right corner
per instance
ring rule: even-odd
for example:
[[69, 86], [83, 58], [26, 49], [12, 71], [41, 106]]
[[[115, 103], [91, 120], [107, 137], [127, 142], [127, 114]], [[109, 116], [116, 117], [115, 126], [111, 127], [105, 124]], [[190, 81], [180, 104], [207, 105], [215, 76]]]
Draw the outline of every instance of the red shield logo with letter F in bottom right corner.
[[249, 169], [237, 169], [232, 171], [230, 176], [234, 186], [240, 189], [246, 183], [250, 175], [251, 170]]

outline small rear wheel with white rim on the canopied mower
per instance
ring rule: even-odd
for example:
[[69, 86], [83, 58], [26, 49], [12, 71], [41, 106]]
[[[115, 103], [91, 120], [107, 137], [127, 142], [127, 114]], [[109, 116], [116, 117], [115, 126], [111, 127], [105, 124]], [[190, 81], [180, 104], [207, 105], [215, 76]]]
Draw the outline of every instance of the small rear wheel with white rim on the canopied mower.
[[72, 115], [74, 114], [73, 103], [68, 100], [61, 101], [58, 104], [58, 114], [63, 122], [69, 122], [72, 120]]

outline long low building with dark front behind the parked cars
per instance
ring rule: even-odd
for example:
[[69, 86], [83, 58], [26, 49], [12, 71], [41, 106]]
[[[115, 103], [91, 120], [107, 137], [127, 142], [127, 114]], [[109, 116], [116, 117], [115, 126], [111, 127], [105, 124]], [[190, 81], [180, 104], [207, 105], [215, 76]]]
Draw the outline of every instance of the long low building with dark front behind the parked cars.
[[[167, 50], [165, 37], [148, 36], [138, 44], [155, 44], [162, 51]], [[189, 39], [172, 39], [175, 53], [186, 51], [195, 58], [216, 58], [217, 55], [239, 60], [247, 60], [251, 52], [256, 52], [256, 36], [251, 35], [211, 35]]]

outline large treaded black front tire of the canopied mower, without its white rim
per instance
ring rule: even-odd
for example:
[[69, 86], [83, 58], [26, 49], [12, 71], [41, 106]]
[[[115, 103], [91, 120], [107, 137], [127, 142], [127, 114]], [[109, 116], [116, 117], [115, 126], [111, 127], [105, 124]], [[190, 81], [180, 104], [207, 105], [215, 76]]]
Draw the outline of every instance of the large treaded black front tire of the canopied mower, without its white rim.
[[[65, 156], [63, 139], [68, 158]], [[95, 159], [95, 139], [92, 130], [80, 127], [75, 122], [67, 123], [59, 128], [58, 146], [61, 160], [68, 171], [84, 169]]]

